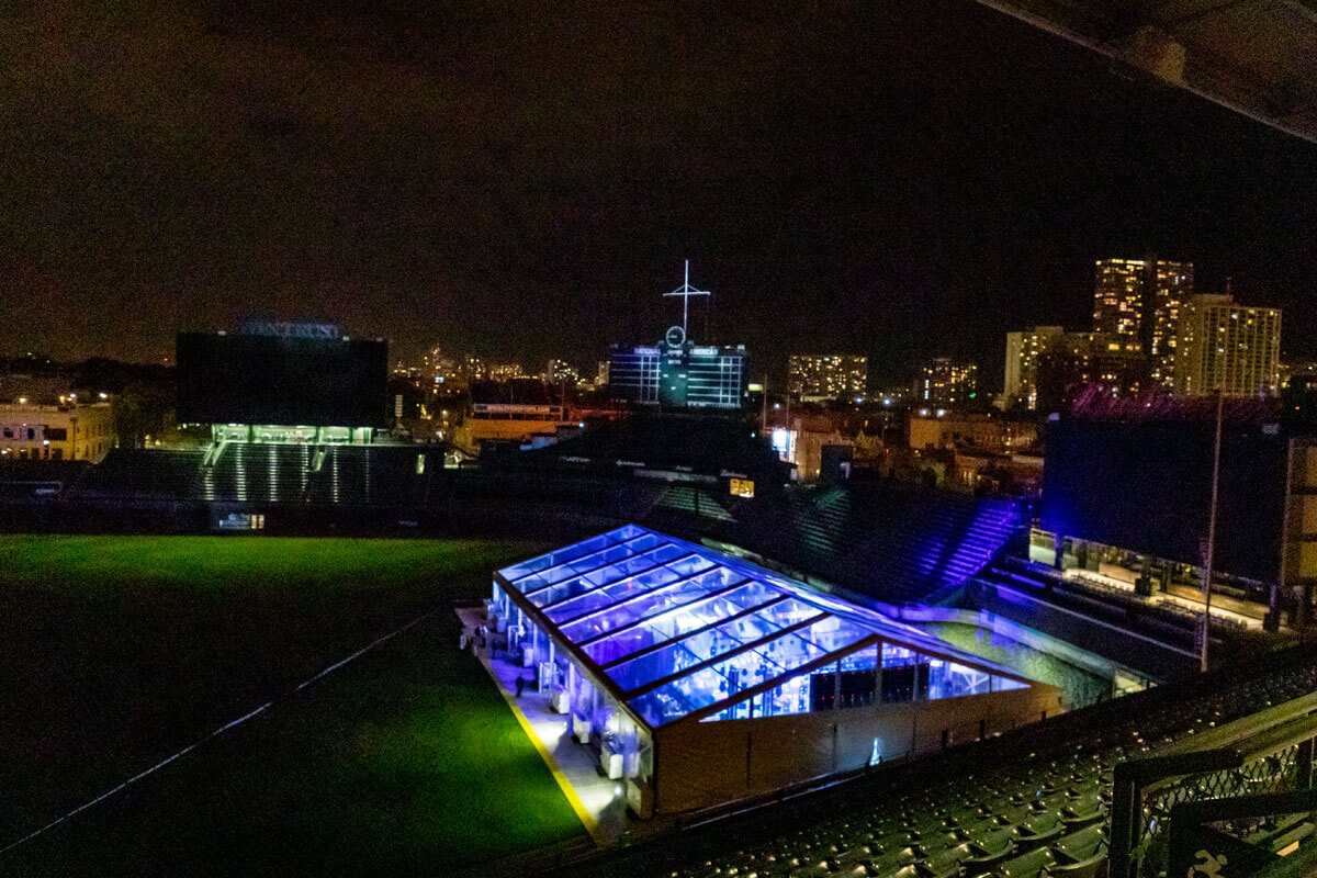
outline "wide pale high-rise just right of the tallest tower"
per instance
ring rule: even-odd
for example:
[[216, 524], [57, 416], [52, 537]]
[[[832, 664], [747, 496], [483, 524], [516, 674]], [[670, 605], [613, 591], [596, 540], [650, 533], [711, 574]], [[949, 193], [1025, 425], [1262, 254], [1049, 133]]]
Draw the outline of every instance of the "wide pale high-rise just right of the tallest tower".
[[1250, 308], [1227, 295], [1197, 295], [1176, 338], [1176, 391], [1201, 396], [1275, 396], [1280, 387], [1280, 309]]

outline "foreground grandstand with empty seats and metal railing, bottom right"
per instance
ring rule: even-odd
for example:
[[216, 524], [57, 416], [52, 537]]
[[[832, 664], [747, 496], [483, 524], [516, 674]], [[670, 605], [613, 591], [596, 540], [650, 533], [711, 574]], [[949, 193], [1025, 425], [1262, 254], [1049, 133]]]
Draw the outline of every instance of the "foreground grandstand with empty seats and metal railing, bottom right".
[[[1252, 849], [1251, 867], [1220, 874], [1313, 874], [1297, 869], [1317, 862], [1314, 691], [1317, 658], [1295, 648], [788, 800], [744, 802], [622, 852], [539, 862], [601, 878], [1151, 877], [1193, 828], [1177, 829], [1176, 806], [1247, 796], [1264, 817], [1216, 825], [1233, 833], [1231, 853]], [[1283, 813], [1292, 806], [1267, 798], [1277, 794], [1306, 808]], [[1287, 860], [1296, 870], [1281, 871]]]

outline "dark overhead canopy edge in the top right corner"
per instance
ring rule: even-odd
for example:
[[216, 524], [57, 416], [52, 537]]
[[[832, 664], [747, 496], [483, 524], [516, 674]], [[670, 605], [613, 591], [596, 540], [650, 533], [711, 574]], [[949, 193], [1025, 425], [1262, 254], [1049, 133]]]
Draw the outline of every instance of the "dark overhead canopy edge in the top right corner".
[[979, 0], [1317, 142], [1317, 0]]

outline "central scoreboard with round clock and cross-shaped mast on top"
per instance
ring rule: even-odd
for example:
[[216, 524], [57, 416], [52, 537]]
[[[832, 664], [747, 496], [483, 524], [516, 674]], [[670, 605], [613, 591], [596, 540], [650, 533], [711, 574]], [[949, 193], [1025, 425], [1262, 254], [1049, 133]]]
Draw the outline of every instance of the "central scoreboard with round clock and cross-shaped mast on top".
[[610, 345], [608, 395], [641, 407], [740, 409], [748, 375], [744, 345], [697, 345], [686, 334], [691, 296], [709, 292], [686, 283], [665, 294], [682, 299], [682, 325], [657, 345]]

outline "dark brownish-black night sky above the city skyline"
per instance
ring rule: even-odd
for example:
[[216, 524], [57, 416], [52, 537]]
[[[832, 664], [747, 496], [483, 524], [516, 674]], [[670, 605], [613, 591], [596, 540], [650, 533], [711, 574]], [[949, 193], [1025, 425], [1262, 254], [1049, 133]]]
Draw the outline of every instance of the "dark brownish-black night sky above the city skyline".
[[583, 365], [689, 257], [756, 369], [996, 383], [1156, 250], [1317, 357], [1317, 146], [971, 0], [610, 5], [0, 0], [0, 354], [259, 313]]

